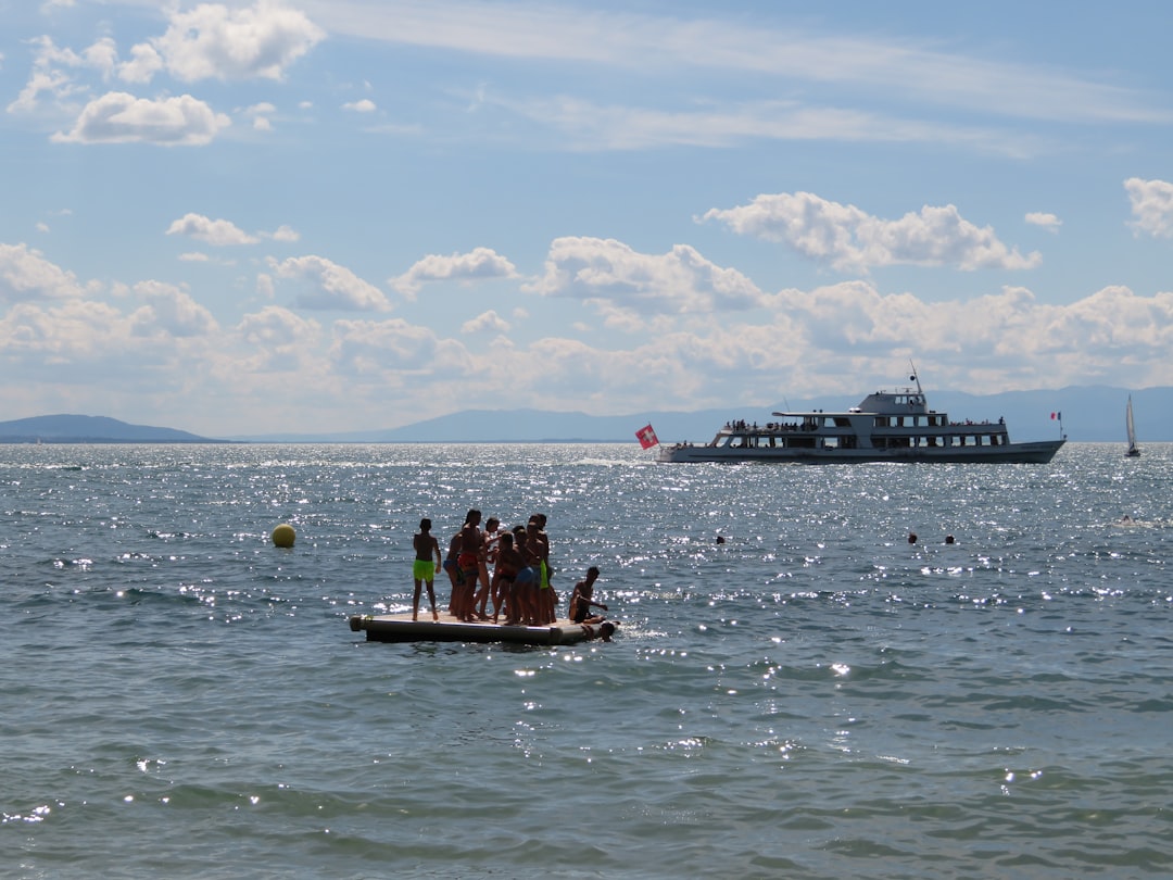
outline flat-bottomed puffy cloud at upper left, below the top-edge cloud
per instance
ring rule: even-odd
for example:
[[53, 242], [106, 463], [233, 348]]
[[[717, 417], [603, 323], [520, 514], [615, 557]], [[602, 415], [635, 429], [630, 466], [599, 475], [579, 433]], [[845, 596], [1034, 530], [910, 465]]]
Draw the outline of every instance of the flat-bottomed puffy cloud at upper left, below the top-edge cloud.
[[191, 95], [157, 101], [110, 92], [86, 104], [73, 131], [57, 133], [57, 143], [154, 143], [197, 147], [210, 143], [232, 122]]

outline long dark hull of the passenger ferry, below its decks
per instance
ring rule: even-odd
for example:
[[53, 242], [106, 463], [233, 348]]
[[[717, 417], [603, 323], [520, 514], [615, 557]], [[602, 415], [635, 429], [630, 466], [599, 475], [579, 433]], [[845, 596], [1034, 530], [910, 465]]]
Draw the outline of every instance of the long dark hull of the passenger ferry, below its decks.
[[657, 461], [663, 462], [741, 462], [792, 465], [866, 465], [896, 463], [996, 463], [1045, 465], [1063, 446], [1064, 440], [1040, 440], [1004, 446], [961, 446], [896, 449], [802, 449], [802, 448], [733, 448], [728, 446], [660, 447]]

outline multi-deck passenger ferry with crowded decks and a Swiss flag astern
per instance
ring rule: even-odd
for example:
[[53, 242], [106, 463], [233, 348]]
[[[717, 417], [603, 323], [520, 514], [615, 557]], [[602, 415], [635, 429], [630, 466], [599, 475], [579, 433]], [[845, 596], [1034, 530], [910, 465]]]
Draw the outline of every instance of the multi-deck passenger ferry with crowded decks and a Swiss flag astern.
[[877, 391], [845, 413], [773, 413], [766, 425], [728, 422], [703, 446], [662, 446], [657, 461], [791, 461], [845, 465], [870, 461], [1043, 465], [1066, 441], [1010, 442], [1004, 419], [950, 421], [915, 388]]

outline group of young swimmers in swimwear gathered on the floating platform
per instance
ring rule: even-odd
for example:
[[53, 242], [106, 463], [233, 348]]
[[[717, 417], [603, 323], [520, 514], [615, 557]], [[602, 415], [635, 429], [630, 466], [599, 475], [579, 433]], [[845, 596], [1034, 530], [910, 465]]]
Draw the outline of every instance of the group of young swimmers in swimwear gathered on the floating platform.
[[[439, 621], [433, 578], [442, 569], [452, 581], [448, 614], [465, 623], [491, 621], [506, 625], [545, 627], [557, 621], [558, 595], [550, 584], [550, 540], [545, 534], [545, 514], [534, 514], [524, 526], [510, 530], [490, 516], [481, 528], [481, 512], [473, 509], [465, 524], [448, 543], [447, 557], [440, 555], [440, 543], [432, 534], [432, 520], [420, 520], [420, 530], [412, 539], [415, 562], [412, 577], [412, 620], [419, 620], [420, 594], [426, 585], [432, 603], [432, 620]], [[435, 561], [433, 562], [433, 557]], [[490, 573], [491, 567], [491, 573]], [[569, 617], [588, 628], [588, 635], [610, 639], [615, 624], [592, 614], [591, 608], [606, 605], [594, 598], [598, 569], [591, 566], [586, 578], [575, 584], [570, 596]], [[489, 612], [491, 603], [493, 611]]]

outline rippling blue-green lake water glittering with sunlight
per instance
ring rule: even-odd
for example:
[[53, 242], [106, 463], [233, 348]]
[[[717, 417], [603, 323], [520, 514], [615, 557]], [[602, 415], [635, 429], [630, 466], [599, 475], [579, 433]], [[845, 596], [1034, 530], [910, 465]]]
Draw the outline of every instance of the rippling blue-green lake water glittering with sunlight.
[[[1173, 875], [1173, 447], [1123, 451], [0, 446], [0, 866]], [[547, 513], [616, 641], [351, 632], [469, 507]]]

